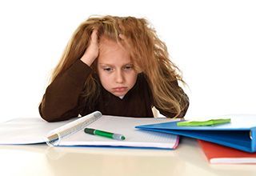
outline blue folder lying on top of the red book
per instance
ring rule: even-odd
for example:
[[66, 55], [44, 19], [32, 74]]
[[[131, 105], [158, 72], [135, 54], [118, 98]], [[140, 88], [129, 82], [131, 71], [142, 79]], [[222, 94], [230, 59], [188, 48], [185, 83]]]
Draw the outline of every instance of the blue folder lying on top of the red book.
[[178, 134], [250, 153], [256, 152], [256, 115], [234, 115], [229, 118], [230, 123], [218, 126], [177, 126], [177, 122], [165, 122], [135, 128]]

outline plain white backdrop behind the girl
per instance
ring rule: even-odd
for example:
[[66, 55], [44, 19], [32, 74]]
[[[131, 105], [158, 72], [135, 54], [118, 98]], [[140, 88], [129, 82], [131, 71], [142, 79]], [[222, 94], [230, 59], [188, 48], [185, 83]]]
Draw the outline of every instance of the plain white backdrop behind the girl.
[[189, 86], [187, 117], [256, 114], [253, 0], [1, 1], [0, 122], [39, 118], [71, 34], [92, 14], [147, 18]]

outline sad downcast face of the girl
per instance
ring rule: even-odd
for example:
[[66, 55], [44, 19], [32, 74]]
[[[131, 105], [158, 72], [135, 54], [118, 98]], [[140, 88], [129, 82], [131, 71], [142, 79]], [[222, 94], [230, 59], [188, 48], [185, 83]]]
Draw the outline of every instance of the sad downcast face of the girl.
[[99, 42], [98, 76], [104, 89], [123, 97], [134, 86], [137, 73], [129, 53], [117, 42], [102, 37]]

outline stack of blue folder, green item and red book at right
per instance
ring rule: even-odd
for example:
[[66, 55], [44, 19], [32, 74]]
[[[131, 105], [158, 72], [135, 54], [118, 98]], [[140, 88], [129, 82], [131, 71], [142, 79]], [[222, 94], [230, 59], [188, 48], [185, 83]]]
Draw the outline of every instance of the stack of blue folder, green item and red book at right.
[[[230, 122], [165, 122], [138, 129], [199, 139], [210, 163], [256, 163], [256, 115], [228, 115]], [[181, 124], [181, 125], [178, 125]]]

